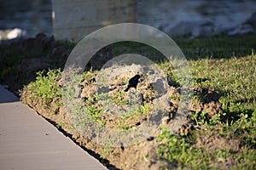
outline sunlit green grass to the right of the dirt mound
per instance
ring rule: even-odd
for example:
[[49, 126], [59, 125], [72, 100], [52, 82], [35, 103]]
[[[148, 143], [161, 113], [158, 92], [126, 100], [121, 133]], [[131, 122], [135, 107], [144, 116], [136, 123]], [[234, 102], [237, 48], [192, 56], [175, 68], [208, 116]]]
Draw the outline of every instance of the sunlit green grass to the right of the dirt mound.
[[[183, 169], [225, 168], [224, 161], [235, 160], [229, 168], [256, 166], [256, 55], [229, 59], [190, 60], [195, 86], [214, 88], [221, 95], [222, 111], [209, 120], [207, 113], [195, 113], [191, 120], [203, 130], [186, 137], [164, 130], [159, 136], [159, 156]], [[205, 81], [197, 81], [205, 80]], [[212, 150], [195, 147], [195, 140], [209, 132], [224, 139], [237, 139], [240, 150]], [[219, 161], [222, 160], [222, 161]]]

